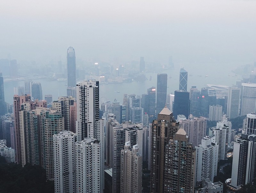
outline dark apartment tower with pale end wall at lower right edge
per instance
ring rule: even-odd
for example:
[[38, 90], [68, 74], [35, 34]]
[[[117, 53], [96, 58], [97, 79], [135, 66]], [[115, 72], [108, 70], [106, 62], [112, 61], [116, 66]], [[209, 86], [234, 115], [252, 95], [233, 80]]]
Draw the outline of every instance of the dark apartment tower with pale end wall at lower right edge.
[[239, 189], [241, 185], [253, 184], [255, 179], [255, 134], [241, 134], [234, 141], [231, 186]]

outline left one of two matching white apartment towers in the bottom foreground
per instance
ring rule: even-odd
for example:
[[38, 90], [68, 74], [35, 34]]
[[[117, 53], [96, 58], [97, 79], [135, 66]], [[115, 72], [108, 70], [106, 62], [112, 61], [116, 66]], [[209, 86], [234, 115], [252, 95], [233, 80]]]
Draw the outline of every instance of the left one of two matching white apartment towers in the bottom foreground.
[[70, 131], [53, 135], [55, 193], [76, 192], [76, 134]]

